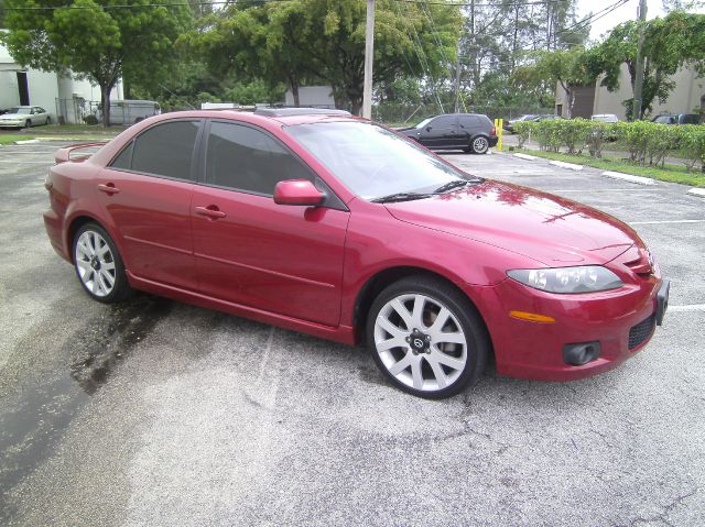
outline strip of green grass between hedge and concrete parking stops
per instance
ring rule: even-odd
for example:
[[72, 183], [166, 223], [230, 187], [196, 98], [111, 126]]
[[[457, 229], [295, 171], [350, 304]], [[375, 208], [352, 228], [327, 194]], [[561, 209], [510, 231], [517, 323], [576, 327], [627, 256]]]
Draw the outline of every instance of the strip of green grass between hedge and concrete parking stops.
[[544, 157], [546, 160], [564, 161], [566, 163], [578, 163], [581, 165], [600, 168], [603, 171], [621, 172], [631, 174], [632, 176], [650, 177], [660, 182], [680, 183], [681, 185], [691, 185], [693, 187], [705, 187], [705, 174], [696, 172], [687, 172], [683, 165], [665, 164], [663, 167], [639, 166], [629, 161], [619, 157], [604, 156], [596, 160], [588, 155], [568, 155], [555, 152], [543, 152], [528, 149], [516, 149], [514, 152], [523, 152], [525, 154]]

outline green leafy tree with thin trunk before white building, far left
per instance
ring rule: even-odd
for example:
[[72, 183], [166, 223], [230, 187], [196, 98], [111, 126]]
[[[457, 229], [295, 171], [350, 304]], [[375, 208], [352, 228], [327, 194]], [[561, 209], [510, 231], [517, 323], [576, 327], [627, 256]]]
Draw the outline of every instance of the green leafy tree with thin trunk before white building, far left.
[[[169, 0], [6, 0], [12, 57], [46, 72], [69, 72], [100, 86], [102, 123], [110, 122], [110, 91], [120, 77], [155, 83], [166, 75], [173, 43], [192, 22], [187, 6]], [[116, 7], [113, 7], [116, 6]]]

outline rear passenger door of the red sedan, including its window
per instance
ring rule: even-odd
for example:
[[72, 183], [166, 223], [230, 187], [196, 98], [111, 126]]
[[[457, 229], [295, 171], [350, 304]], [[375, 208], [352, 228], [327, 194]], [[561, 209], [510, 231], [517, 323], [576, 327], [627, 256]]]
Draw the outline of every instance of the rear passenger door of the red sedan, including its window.
[[128, 271], [195, 289], [191, 199], [202, 121], [173, 120], [138, 135], [96, 180]]

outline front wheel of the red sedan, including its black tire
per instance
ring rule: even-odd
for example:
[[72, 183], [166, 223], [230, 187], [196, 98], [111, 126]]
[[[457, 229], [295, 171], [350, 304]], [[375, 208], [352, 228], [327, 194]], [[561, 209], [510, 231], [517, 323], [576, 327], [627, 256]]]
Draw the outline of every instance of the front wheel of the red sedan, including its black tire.
[[[384, 339], [389, 339], [388, 342], [393, 340], [395, 337], [393, 333], [388, 332], [383, 327], [377, 326], [378, 317], [381, 317], [380, 320], [386, 319], [386, 312], [390, 309], [388, 307], [389, 303], [394, 299], [404, 298], [406, 295], [422, 295], [424, 298], [424, 303], [422, 304], [422, 306], [424, 306], [424, 314], [421, 315], [422, 319], [426, 318], [427, 315], [433, 315], [433, 312], [429, 314], [426, 310], [431, 311], [434, 306], [442, 306], [451, 311], [454, 319], [448, 318], [447, 323], [452, 327], [459, 326], [457, 330], [462, 331], [465, 342], [464, 344], [456, 344], [455, 347], [454, 344], [451, 344], [451, 350], [448, 350], [447, 344], [441, 344], [445, 348], [441, 356], [452, 356], [453, 359], [457, 356], [459, 358], [458, 360], [464, 358], [465, 363], [463, 367], [449, 369], [451, 373], [448, 374], [445, 365], [438, 366], [438, 362], [436, 361], [440, 353], [438, 344], [434, 344], [433, 340], [431, 340], [430, 344], [425, 344], [426, 351], [414, 351], [413, 345], [416, 344], [412, 342], [419, 342], [419, 340], [423, 342], [424, 340], [424, 337], [421, 339], [414, 339], [414, 334], [426, 334], [426, 340], [429, 340], [430, 336], [433, 333], [433, 320], [431, 320], [431, 326], [422, 322], [423, 327], [420, 328], [421, 333], [406, 332], [405, 341], [409, 342], [409, 344], [405, 344], [404, 347], [394, 347], [391, 350], [383, 349], [380, 351], [378, 349], [386, 347], [383, 345], [384, 342], [378, 340], [376, 337], [379, 337], [381, 333], [386, 333], [389, 336], [389, 338], [384, 337]], [[416, 300], [408, 301], [413, 304]], [[395, 315], [393, 310], [390, 312], [392, 316]], [[408, 315], [411, 315], [411, 312], [409, 311]], [[440, 314], [436, 312], [436, 318], [438, 315]], [[401, 319], [401, 317], [399, 318]], [[406, 330], [410, 329], [411, 328], [406, 326]], [[440, 329], [443, 330], [443, 328]], [[442, 334], [449, 333], [443, 332]], [[444, 339], [442, 338], [441, 340], [443, 341]], [[367, 317], [367, 344], [377, 366], [394, 386], [409, 394], [430, 399], [451, 397], [468, 386], [475, 385], [479, 376], [485, 371], [487, 356], [490, 351], [490, 340], [487, 334], [485, 323], [470, 300], [447, 282], [424, 275], [409, 276], [395, 282], [384, 288], [377, 296]], [[382, 345], [380, 347], [380, 344]], [[446, 355], [446, 353], [449, 353], [449, 355]], [[392, 370], [394, 367], [400, 369], [400, 365], [402, 363], [405, 364], [405, 361], [417, 361], [419, 366], [416, 367], [422, 372], [421, 389], [409, 384], [410, 382], [415, 382], [413, 381], [414, 369], [412, 364], [408, 367], [403, 367], [403, 370], [398, 370], [397, 374], [392, 374], [390, 372], [390, 367]], [[447, 378], [454, 378], [453, 382], [441, 387], [433, 363], [435, 363], [436, 367], [443, 367], [444, 378], [446, 378], [447, 374]], [[410, 380], [410, 377], [412, 377], [412, 380]]]

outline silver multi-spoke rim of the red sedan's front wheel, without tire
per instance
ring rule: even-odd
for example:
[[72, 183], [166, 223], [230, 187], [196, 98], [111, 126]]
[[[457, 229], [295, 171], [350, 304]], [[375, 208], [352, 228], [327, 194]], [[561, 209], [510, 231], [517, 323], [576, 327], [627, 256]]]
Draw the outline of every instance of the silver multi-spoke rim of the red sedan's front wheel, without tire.
[[441, 301], [420, 294], [384, 304], [375, 321], [375, 348], [397, 381], [421, 392], [447, 388], [467, 364], [460, 322]]

